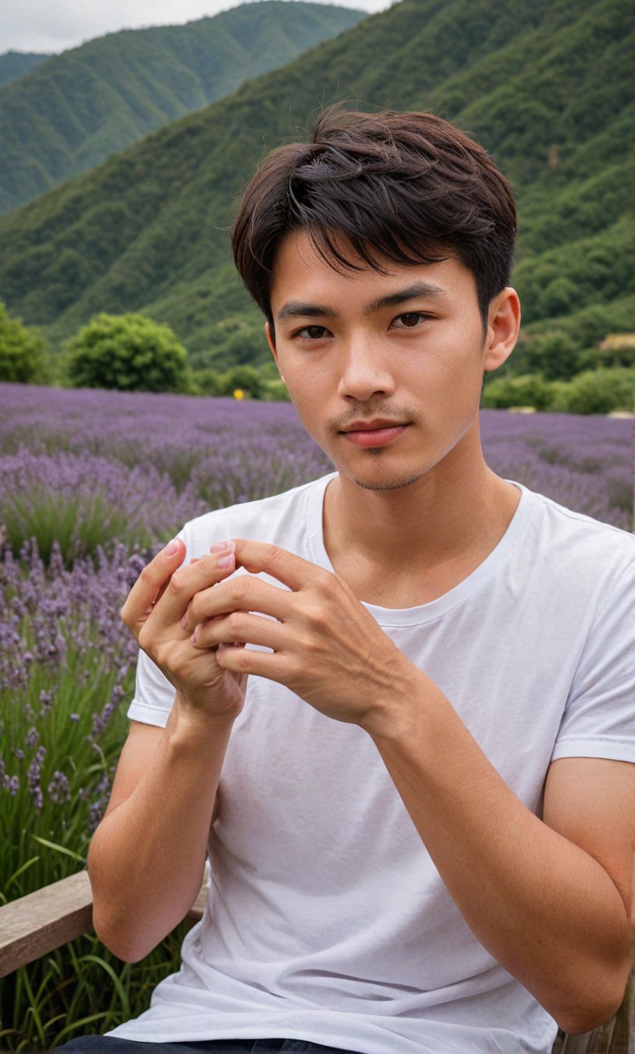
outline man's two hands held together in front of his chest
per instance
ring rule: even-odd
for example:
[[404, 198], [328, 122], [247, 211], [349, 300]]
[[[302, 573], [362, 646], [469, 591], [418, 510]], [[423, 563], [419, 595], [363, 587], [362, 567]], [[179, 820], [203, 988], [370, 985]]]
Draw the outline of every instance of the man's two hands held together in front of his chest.
[[[172, 542], [143, 569], [121, 610], [184, 705], [233, 719], [253, 674], [370, 731], [399, 692], [412, 694], [420, 672], [339, 575], [271, 543], [238, 539], [211, 548], [181, 567], [185, 546]], [[239, 567], [249, 573], [231, 578]]]

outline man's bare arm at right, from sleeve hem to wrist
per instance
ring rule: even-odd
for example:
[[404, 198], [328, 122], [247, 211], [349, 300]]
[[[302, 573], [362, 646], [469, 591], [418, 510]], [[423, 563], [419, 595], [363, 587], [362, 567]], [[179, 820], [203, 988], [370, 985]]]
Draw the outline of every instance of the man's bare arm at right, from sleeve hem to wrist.
[[554, 762], [542, 821], [434, 686], [378, 728], [384, 764], [476, 937], [564, 1031], [607, 1020], [631, 961], [635, 765]]

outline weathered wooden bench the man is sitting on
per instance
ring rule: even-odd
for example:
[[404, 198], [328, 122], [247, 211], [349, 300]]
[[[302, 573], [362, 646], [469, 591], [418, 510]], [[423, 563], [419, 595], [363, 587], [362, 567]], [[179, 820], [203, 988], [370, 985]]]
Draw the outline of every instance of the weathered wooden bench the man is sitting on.
[[[200, 919], [206, 896], [207, 886], [203, 885], [186, 918], [193, 922]], [[4, 904], [0, 907], [0, 977], [92, 929], [93, 895], [85, 871]], [[615, 1017], [583, 1035], [560, 1033], [552, 1054], [629, 1054], [633, 1028], [635, 983], [632, 976]]]

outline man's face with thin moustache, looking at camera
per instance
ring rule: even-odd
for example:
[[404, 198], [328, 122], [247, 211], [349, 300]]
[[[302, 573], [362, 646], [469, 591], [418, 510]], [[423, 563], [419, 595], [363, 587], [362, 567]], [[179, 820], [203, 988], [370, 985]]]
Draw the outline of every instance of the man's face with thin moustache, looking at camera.
[[294, 232], [272, 285], [272, 351], [302, 424], [340, 473], [377, 490], [478, 445], [493, 368], [471, 271], [454, 258], [389, 268], [338, 273]]

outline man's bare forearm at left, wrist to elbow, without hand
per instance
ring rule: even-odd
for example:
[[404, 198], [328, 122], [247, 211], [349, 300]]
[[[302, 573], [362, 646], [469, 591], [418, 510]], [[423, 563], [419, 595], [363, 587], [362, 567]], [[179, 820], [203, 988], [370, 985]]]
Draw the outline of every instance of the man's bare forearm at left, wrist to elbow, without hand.
[[133, 793], [107, 813], [88, 853], [94, 924], [120, 958], [146, 955], [200, 889], [232, 722], [175, 705]]

